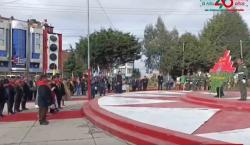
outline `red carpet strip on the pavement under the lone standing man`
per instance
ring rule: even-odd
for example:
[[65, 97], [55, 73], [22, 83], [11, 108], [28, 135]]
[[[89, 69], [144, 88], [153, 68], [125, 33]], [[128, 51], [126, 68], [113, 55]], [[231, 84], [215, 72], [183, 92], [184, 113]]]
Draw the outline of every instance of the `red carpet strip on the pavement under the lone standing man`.
[[[82, 118], [82, 117], [84, 117], [84, 115], [81, 110], [62, 111], [56, 114], [48, 113], [47, 115], [48, 120], [73, 119], [73, 118]], [[35, 121], [35, 120], [38, 120], [37, 112], [6, 115], [5, 117], [0, 118], [0, 122]]]

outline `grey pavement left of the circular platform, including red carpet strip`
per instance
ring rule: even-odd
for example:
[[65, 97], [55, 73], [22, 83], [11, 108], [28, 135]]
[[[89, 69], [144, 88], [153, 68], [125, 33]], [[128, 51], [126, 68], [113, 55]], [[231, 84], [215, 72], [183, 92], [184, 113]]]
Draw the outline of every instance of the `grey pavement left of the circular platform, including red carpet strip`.
[[29, 110], [0, 119], [0, 145], [127, 145], [91, 124], [81, 111], [84, 102], [81, 96], [65, 101], [59, 113], [48, 114], [47, 126], [39, 125], [34, 102], [27, 103]]

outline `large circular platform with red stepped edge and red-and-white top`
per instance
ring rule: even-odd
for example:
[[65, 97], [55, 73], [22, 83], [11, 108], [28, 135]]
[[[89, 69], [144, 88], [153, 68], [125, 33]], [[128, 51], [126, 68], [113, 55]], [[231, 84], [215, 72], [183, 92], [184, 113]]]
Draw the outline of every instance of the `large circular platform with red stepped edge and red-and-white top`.
[[250, 102], [208, 92], [115, 94], [84, 105], [97, 126], [134, 144], [250, 144]]

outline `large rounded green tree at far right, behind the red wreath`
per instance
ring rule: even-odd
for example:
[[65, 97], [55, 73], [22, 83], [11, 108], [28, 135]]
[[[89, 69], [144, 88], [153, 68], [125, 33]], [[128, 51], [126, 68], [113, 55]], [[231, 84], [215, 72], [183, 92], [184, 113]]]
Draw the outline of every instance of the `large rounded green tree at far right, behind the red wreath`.
[[239, 58], [240, 40], [245, 42], [244, 57], [250, 56], [249, 30], [239, 13], [221, 12], [213, 16], [200, 34], [201, 64], [208, 70], [225, 49], [231, 50], [233, 60]]

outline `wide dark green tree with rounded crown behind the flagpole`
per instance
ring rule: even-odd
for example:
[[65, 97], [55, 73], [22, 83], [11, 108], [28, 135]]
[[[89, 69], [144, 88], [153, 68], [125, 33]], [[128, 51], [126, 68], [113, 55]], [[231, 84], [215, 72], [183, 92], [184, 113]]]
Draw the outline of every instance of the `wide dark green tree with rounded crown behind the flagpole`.
[[[87, 67], [87, 38], [76, 43], [77, 58]], [[141, 44], [130, 33], [101, 29], [90, 35], [91, 66], [111, 69], [140, 58]]]

